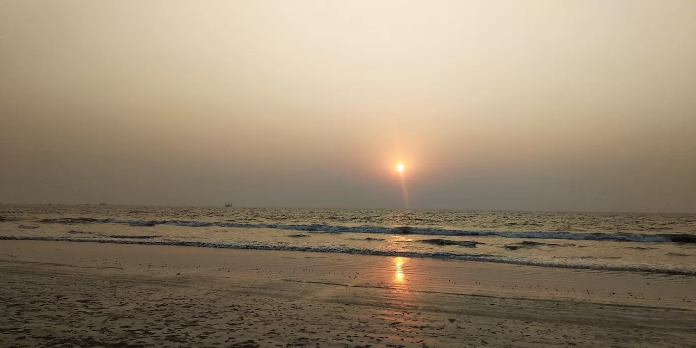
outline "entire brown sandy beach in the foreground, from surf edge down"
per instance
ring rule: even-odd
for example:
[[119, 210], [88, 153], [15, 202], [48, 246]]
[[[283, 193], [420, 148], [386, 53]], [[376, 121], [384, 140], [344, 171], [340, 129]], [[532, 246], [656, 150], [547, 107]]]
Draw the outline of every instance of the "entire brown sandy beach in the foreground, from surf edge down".
[[696, 347], [696, 277], [0, 242], [1, 347]]

